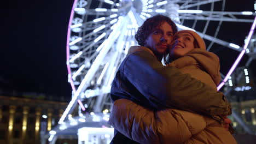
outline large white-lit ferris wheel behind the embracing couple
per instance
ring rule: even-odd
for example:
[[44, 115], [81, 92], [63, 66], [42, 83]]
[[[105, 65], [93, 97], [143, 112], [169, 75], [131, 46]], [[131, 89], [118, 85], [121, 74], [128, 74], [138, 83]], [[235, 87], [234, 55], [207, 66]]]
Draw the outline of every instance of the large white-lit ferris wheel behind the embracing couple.
[[[210, 41], [206, 43], [207, 50], [216, 43], [241, 52], [242, 46], [218, 39], [219, 29], [223, 21], [253, 23], [253, 18], [243, 16], [254, 17], [255, 13], [224, 8], [225, 0], [75, 0], [67, 34], [68, 82], [73, 94], [59, 124], [77, 105], [81, 115], [109, 113], [109, 92], [115, 72], [129, 47], [137, 45], [135, 33], [148, 17], [171, 17], [179, 30], [191, 29]], [[213, 21], [218, 24], [210, 26]], [[208, 33], [209, 29], [214, 33]], [[252, 53], [248, 49], [246, 52]]]

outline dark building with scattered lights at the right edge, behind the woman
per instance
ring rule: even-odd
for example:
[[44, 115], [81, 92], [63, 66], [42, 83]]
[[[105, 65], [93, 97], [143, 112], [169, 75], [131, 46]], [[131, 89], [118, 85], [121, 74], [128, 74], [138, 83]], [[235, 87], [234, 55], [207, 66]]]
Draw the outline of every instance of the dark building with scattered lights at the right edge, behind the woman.
[[[233, 112], [240, 116], [244, 124], [256, 131], [256, 89], [255, 75], [251, 67], [238, 67], [225, 84], [224, 93], [231, 102]], [[245, 127], [231, 116], [237, 134], [247, 134]]]

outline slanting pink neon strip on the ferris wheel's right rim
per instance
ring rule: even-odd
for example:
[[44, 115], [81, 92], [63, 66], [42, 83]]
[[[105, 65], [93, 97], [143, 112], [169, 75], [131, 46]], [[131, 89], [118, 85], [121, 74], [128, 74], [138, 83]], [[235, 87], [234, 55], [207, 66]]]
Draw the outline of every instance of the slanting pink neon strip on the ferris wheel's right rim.
[[246, 49], [247, 49], [247, 47], [248, 47], [248, 44], [249, 44], [249, 41], [251, 40], [252, 35], [253, 35], [255, 25], [256, 25], [256, 16], [255, 16], [255, 18], [254, 18], [254, 21], [253, 21], [253, 25], [252, 25], [252, 27], [251, 27], [251, 30], [250, 30], [250, 32], [249, 32], [249, 34], [248, 34], [247, 41], [246, 41], [245, 45], [243, 46], [243, 50], [240, 52], [240, 55], [236, 58], [236, 61], [235, 61], [235, 63], [232, 65], [232, 67], [230, 68], [228, 74], [226, 74], [226, 77], [225, 77], [225, 79], [223, 80], [223, 82], [221, 82], [221, 83], [219, 84], [219, 86], [218, 86], [218, 88], [217, 88], [218, 91], [219, 91], [220, 88], [222, 88], [222, 87], [224, 86], [224, 83], [228, 80], [228, 77], [233, 73], [233, 71], [234, 71], [235, 68], [237, 67], [238, 63], [241, 61], [243, 55], [245, 55], [245, 51], [246, 51]]

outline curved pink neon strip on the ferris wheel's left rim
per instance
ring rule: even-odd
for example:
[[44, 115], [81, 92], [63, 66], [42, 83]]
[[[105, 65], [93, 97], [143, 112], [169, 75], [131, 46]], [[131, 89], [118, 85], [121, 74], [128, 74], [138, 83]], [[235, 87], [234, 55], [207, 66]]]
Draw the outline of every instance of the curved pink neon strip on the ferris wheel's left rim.
[[70, 14], [70, 17], [69, 17], [68, 31], [67, 31], [67, 44], [66, 44], [67, 70], [68, 70], [68, 75], [70, 75], [70, 77], [69, 77], [70, 85], [71, 85], [72, 90], [73, 90], [74, 93], [75, 93], [76, 89], [74, 87], [74, 82], [72, 80], [72, 73], [71, 73], [71, 69], [70, 69], [70, 65], [69, 65], [69, 37], [70, 37], [70, 33], [71, 33], [70, 27], [72, 25], [72, 20], [73, 20], [73, 16], [74, 16], [75, 4], [77, 4], [77, 0], [74, 0], [73, 7], [72, 7], [72, 10], [71, 10], [71, 14]]

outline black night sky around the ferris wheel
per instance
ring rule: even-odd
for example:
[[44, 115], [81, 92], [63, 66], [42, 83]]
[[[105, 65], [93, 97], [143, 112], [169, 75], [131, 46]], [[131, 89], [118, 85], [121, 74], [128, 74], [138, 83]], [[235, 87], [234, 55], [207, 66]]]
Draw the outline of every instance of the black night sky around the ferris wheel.
[[[251, 5], [233, 0], [226, 3], [226, 11], [253, 11], [254, 1]], [[72, 4], [69, 0], [1, 4], [1, 88], [71, 98], [71, 86], [67, 82], [66, 35]], [[223, 22], [218, 38], [243, 46], [251, 25]], [[218, 49], [213, 52], [220, 57], [221, 69], [226, 73], [238, 52], [216, 46]]]

